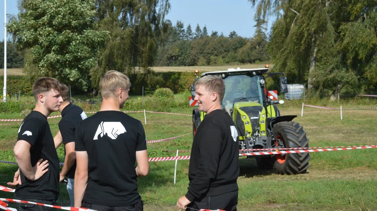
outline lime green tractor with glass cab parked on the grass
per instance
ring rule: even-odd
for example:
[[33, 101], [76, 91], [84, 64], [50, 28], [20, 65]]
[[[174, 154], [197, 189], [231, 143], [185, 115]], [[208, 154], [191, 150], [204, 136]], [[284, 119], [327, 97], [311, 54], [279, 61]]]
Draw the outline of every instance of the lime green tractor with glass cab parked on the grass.
[[[195, 82], [191, 85], [192, 99], [195, 98]], [[258, 69], [228, 69], [225, 71], [206, 72], [205, 75], [221, 75], [225, 82], [225, 95], [222, 107], [232, 117], [239, 135], [240, 153], [251, 149], [298, 148], [309, 147], [309, 139], [303, 127], [292, 120], [297, 116], [280, 116], [277, 104], [284, 101], [272, 100], [267, 95], [266, 77], [284, 75], [268, 73], [268, 66]], [[280, 92], [287, 93], [287, 78], [279, 79]], [[193, 109], [193, 136], [205, 113]], [[262, 150], [261, 150], [262, 151]], [[279, 174], [305, 173], [309, 167], [309, 153], [274, 154], [256, 156], [257, 164], [262, 169], [275, 169]]]

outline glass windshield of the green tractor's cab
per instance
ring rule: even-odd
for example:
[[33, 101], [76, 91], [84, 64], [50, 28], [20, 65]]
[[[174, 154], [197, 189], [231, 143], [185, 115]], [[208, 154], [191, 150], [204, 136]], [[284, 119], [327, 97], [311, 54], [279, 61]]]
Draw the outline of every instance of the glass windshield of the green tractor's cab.
[[261, 76], [232, 75], [224, 79], [225, 95], [223, 105], [233, 104], [235, 99], [247, 98], [244, 101], [262, 103], [262, 92], [259, 81]]

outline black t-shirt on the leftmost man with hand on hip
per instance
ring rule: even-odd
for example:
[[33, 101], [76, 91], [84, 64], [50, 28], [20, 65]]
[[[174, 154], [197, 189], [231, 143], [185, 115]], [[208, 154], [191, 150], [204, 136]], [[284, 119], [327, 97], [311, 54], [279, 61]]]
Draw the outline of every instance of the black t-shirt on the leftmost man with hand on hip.
[[54, 138], [46, 116], [32, 111], [18, 129], [17, 141], [25, 140], [31, 144], [31, 165], [37, 164], [40, 158], [48, 160], [48, 171], [35, 181], [27, 179], [20, 171], [21, 185], [16, 187], [17, 197], [26, 199], [52, 200], [59, 195], [59, 159], [55, 150]]

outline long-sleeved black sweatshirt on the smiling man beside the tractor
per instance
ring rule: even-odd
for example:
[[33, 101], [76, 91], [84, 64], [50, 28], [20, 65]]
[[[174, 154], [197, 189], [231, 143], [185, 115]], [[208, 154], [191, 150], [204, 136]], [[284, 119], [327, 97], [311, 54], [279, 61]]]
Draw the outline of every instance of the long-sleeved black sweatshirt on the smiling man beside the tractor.
[[233, 120], [225, 110], [213, 110], [199, 125], [192, 143], [186, 198], [193, 202], [238, 190], [238, 154]]

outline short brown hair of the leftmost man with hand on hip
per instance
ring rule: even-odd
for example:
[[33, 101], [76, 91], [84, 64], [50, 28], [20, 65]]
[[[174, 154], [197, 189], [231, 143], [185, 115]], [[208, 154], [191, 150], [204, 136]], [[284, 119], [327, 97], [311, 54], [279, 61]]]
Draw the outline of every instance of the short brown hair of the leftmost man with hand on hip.
[[38, 95], [49, 92], [51, 89], [61, 92], [61, 83], [57, 79], [49, 77], [38, 78], [31, 88], [36, 101]]

